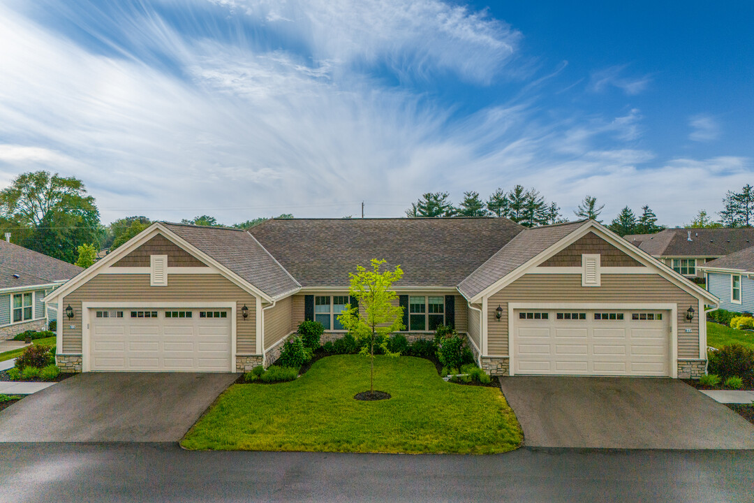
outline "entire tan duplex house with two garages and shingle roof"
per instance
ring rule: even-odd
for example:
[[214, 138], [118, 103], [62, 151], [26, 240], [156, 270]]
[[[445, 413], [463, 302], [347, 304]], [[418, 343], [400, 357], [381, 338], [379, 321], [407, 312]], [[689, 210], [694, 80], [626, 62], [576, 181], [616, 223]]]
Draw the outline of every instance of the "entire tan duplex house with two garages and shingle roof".
[[452, 325], [492, 375], [704, 371], [700, 320], [715, 296], [592, 220], [504, 218], [155, 222], [49, 296], [71, 315], [57, 361], [84, 372], [267, 366], [305, 319], [326, 327], [323, 342], [344, 334], [348, 274], [370, 259], [403, 268], [394, 289], [409, 339]]

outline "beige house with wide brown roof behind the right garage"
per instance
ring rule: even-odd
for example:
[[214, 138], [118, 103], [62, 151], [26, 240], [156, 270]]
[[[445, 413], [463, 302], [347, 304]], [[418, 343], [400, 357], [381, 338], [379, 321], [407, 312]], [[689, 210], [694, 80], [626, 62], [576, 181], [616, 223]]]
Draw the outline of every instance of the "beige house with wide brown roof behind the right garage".
[[687, 278], [703, 278], [701, 265], [754, 246], [754, 228], [666, 228], [624, 239]]

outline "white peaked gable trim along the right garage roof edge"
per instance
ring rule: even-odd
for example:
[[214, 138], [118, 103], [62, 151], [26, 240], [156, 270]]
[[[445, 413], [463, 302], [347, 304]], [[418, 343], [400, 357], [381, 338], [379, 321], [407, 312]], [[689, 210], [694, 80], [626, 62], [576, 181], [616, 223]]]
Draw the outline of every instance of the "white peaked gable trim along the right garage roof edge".
[[487, 287], [482, 292], [477, 293], [477, 295], [474, 296], [473, 299], [470, 299], [471, 302], [479, 302], [480, 297], [495, 293], [498, 290], [506, 287], [508, 284], [513, 283], [513, 281], [516, 281], [521, 276], [527, 274], [533, 265], [544, 262], [551, 256], [558, 253], [560, 250], [562, 250], [562, 248], [567, 247], [569, 244], [572, 244], [575, 241], [578, 241], [579, 238], [587, 235], [587, 233], [590, 231], [594, 232], [609, 244], [612, 244], [613, 246], [618, 248], [618, 250], [623, 251], [631, 258], [646, 265], [647, 268], [653, 269], [655, 272], [657, 272], [657, 274], [661, 275], [663, 278], [667, 279], [668, 281], [676, 285], [676, 287], [679, 287], [681, 290], [691, 293], [691, 295], [693, 295], [697, 299], [703, 297], [713, 304], [719, 305], [720, 301], [716, 296], [699, 287], [697, 284], [691, 283], [691, 281], [688, 281], [688, 279], [686, 279], [684, 276], [680, 275], [676, 271], [673, 271], [672, 268], [655, 259], [653, 256], [649, 255], [640, 248], [634, 246], [633, 244], [630, 244], [628, 241], [626, 241], [624, 238], [621, 238], [610, 229], [605, 228], [604, 225], [600, 225], [598, 222], [595, 222], [593, 220], [586, 222], [585, 225], [582, 225], [574, 232], [567, 235], [565, 238], [562, 238], [560, 241], [547, 248], [547, 250], [544, 250], [538, 256], [529, 259], [528, 262], [520, 265], [514, 271], [511, 271], [508, 275], [505, 275], [503, 278], [500, 278], [498, 281]]

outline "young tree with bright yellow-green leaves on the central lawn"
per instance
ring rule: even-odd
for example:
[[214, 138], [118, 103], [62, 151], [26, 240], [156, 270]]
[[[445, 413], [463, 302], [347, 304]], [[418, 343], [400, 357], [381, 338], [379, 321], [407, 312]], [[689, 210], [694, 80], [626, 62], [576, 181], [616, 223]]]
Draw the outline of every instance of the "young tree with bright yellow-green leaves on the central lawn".
[[369, 357], [369, 393], [375, 392], [375, 341], [388, 356], [397, 356], [388, 349], [388, 335], [403, 330], [403, 307], [397, 304], [398, 295], [391, 287], [403, 277], [400, 265], [394, 271], [381, 271], [385, 260], [372, 259], [372, 270], [357, 265], [356, 274], [350, 273], [351, 287], [348, 293], [357, 300], [357, 305], [339, 315], [338, 320], [354, 339], [367, 339], [369, 344], [361, 354]]

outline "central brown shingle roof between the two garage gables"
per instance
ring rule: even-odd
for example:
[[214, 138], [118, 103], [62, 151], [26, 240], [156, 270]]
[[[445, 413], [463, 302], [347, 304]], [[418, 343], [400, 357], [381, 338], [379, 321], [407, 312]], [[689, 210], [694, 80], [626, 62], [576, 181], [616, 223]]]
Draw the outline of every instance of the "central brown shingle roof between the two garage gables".
[[455, 288], [523, 227], [505, 218], [271, 219], [249, 232], [303, 287], [348, 287], [371, 259], [404, 287]]

